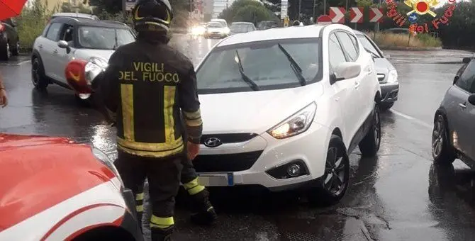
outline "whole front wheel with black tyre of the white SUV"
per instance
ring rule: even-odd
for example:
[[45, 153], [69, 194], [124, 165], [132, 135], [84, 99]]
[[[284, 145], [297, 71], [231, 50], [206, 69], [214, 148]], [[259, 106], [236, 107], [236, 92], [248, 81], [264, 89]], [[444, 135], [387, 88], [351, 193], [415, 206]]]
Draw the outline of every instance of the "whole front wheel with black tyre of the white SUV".
[[317, 186], [308, 191], [310, 203], [318, 206], [331, 206], [339, 202], [350, 181], [350, 159], [345, 144], [337, 135], [332, 135], [328, 145], [325, 173]]

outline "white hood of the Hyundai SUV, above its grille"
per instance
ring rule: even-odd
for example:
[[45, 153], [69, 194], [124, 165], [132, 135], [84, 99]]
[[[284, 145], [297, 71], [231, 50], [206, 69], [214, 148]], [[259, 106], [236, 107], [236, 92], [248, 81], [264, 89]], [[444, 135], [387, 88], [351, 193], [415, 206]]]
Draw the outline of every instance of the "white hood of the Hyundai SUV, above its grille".
[[320, 83], [292, 89], [203, 94], [203, 133], [264, 133], [323, 94]]

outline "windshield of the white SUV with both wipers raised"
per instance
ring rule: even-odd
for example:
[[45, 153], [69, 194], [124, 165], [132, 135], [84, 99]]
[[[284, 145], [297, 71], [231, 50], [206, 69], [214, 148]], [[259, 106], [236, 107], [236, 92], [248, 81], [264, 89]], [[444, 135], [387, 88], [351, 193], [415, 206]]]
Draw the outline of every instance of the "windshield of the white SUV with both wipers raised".
[[[320, 38], [269, 40], [216, 47], [196, 70], [199, 94], [252, 91], [240, 72], [260, 90], [301, 86], [289, 57], [302, 69], [306, 84], [322, 77]], [[238, 52], [238, 55], [236, 54]], [[239, 61], [240, 60], [240, 61]]]

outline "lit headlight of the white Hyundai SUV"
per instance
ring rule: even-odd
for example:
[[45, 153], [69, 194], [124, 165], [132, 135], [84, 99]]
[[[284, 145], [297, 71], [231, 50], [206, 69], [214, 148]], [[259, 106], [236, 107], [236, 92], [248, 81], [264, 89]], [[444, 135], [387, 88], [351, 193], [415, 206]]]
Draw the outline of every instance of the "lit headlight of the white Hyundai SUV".
[[312, 102], [270, 130], [267, 130], [267, 133], [277, 139], [289, 138], [303, 133], [310, 127], [316, 111], [317, 104]]

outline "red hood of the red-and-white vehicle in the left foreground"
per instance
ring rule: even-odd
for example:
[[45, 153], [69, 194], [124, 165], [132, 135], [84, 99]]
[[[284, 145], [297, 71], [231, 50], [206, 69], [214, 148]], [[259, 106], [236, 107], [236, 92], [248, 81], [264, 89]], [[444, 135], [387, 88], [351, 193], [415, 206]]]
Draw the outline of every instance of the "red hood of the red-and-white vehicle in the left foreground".
[[0, 133], [0, 232], [115, 175], [89, 145]]

